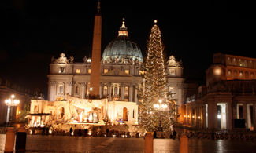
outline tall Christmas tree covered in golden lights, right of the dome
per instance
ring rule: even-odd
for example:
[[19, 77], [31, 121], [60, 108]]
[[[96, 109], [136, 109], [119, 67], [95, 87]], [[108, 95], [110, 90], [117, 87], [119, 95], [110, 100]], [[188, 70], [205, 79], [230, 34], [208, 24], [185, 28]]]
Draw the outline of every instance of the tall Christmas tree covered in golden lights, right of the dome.
[[165, 78], [165, 61], [161, 31], [157, 21], [151, 28], [144, 69], [143, 100], [139, 106], [139, 123], [147, 131], [169, 131], [176, 115], [175, 101], [169, 100]]

